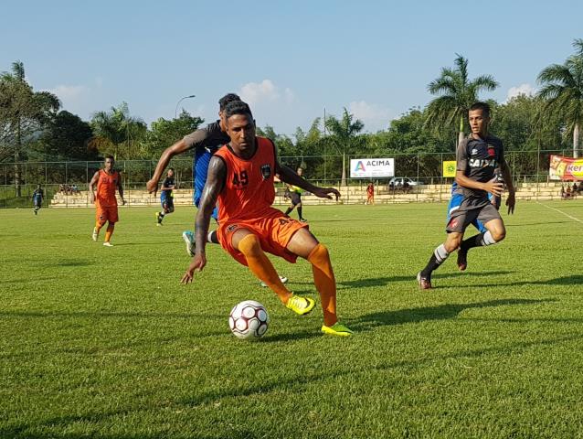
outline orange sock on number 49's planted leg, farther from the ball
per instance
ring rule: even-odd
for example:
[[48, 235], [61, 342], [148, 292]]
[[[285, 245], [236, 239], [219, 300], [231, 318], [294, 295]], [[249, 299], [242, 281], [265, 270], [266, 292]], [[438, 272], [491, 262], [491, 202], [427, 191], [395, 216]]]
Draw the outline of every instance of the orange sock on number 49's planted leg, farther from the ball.
[[326, 246], [316, 245], [308, 255], [308, 262], [312, 263], [313, 283], [316, 285], [322, 301], [323, 324], [326, 327], [332, 327], [338, 321], [336, 316], [336, 279]]

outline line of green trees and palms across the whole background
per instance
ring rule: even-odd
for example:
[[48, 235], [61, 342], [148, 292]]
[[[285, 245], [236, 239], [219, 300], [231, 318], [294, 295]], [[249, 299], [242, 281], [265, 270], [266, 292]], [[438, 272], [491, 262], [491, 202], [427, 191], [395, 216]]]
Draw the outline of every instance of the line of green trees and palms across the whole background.
[[[572, 149], [579, 155], [583, 126], [583, 39], [575, 39], [572, 56], [540, 71], [535, 95], [519, 95], [508, 102], [487, 100], [493, 108], [492, 132], [504, 139], [508, 151]], [[453, 67], [440, 71], [427, 89], [434, 98], [424, 107], [412, 107], [387, 121], [387, 129], [364, 133], [365, 124], [346, 109], [338, 116], [313, 119], [307, 129], [292, 135], [277, 134], [273, 127], [258, 128], [270, 137], [279, 155], [291, 166], [310, 167], [310, 176], [345, 181], [348, 155], [452, 153], [468, 130], [467, 112], [481, 93], [494, 91], [492, 75], [474, 79], [469, 61], [461, 55]], [[483, 99], [483, 98], [482, 98]], [[168, 145], [195, 131], [205, 121], [184, 110], [174, 119], [159, 118], [147, 126], [130, 113], [126, 102], [93, 113], [90, 121], [61, 109], [58, 97], [34, 91], [25, 78], [22, 62], [0, 75], [0, 163], [59, 160], [156, 159]], [[322, 155], [334, 155], [334, 166]], [[314, 157], [320, 156], [318, 160]], [[284, 160], [285, 161], [285, 160]], [[334, 174], [334, 175], [333, 175]], [[18, 187], [18, 166], [15, 183]]]

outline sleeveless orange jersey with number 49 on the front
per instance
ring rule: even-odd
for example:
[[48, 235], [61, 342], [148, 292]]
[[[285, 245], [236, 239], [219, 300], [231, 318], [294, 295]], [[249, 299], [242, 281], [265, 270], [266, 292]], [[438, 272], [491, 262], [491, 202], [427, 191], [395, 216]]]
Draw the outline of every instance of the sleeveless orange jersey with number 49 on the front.
[[249, 160], [234, 155], [228, 145], [216, 156], [225, 161], [225, 187], [218, 194], [218, 220], [256, 219], [269, 211], [275, 199], [275, 145], [264, 137], [256, 137], [257, 150]]

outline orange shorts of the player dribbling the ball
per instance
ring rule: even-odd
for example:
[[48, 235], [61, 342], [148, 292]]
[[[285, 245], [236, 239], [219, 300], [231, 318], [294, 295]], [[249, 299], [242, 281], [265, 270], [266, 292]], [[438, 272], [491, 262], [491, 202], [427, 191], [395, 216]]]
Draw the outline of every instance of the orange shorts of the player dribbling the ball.
[[253, 232], [260, 239], [263, 252], [280, 256], [288, 262], [295, 262], [298, 259], [286, 249], [293, 234], [303, 228], [308, 228], [308, 224], [291, 219], [281, 210], [270, 208], [268, 212], [258, 219], [228, 219], [220, 222], [217, 230], [217, 238], [220, 245], [237, 262], [247, 266], [247, 260], [243, 253], [233, 247], [233, 233], [239, 229], [247, 229]]

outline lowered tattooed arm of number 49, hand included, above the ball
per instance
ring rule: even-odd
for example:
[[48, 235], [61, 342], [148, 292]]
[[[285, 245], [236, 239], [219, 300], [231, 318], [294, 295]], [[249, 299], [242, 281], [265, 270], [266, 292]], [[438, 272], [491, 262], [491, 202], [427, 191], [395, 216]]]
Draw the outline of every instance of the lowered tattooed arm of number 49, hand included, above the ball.
[[196, 252], [188, 269], [182, 276], [181, 282], [183, 284], [190, 284], [195, 272], [202, 271], [207, 265], [205, 249], [207, 247], [208, 226], [213, 209], [217, 205], [218, 194], [225, 186], [226, 177], [227, 166], [225, 162], [222, 158], [213, 156], [208, 164], [207, 184], [203, 189], [202, 198], [200, 198], [200, 204], [198, 205], [198, 213], [196, 213]]

